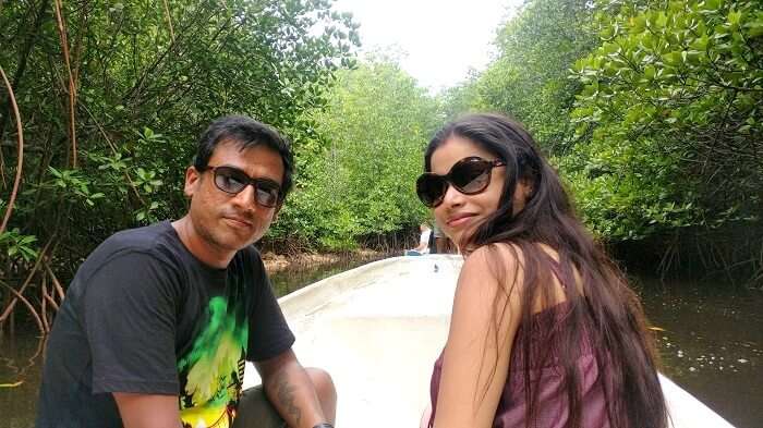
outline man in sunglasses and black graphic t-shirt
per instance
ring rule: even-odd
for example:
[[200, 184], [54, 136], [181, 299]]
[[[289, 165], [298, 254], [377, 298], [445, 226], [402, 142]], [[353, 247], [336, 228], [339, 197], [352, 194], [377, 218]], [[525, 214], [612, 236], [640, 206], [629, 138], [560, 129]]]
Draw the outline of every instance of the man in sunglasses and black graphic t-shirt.
[[[292, 170], [267, 125], [207, 129], [185, 172], [187, 213], [119, 232], [80, 267], [48, 341], [39, 428], [331, 427], [331, 379], [291, 351], [252, 246]], [[264, 387], [242, 393], [245, 359]]]

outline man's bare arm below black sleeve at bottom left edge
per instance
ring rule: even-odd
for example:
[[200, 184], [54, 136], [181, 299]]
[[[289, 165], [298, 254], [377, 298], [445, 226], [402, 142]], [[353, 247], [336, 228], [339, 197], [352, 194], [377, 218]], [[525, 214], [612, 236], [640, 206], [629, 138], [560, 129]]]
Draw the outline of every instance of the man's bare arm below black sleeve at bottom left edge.
[[178, 395], [114, 392], [124, 428], [182, 428]]

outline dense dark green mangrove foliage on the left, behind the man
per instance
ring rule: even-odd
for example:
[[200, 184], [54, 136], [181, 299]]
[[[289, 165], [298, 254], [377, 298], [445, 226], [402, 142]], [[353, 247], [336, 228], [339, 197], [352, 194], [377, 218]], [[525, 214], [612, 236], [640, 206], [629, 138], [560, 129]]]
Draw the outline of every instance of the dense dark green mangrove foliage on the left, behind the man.
[[[50, 1], [2, 2], [0, 65], [21, 110], [25, 150], [9, 227], [17, 232], [2, 235], [0, 266], [7, 256], [31, 259], [37, 242], [19, 236], [55, 237], [52, 247], [65, 248], [53, 255], [65, 280], [114, 231], [181, 217], [184, 170], [213, 119], [247, 114], [299, 146], [315, 134], [304, 112], [324, 106], [334, 73], [354, 62], [358, 25], [330, 0], [167, 4], [169, 15], [153, 1], [63, 2], [68, 66]], [[17, 156], [7, 101], [3, 85], [3, 197]]]

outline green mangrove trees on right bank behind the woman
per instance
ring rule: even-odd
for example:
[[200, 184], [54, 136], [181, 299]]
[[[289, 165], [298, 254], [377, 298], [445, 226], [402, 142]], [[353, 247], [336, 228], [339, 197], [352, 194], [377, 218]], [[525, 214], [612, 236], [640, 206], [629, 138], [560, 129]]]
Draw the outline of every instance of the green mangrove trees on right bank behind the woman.
[[[440, 95], [444, 115], [523, 122], [602, 240], [761, 236], [763, 3], [528, 0], [495, 45]], [[707, 253], [761, 278], [760, 246]]]

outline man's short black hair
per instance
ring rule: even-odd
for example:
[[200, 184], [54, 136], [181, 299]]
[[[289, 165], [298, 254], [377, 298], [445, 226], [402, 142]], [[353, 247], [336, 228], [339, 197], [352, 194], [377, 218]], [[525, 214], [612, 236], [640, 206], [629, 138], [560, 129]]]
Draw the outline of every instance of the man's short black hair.
[[291, 191], [294, 173], [294, 157], [291, 154], [289, 139], [272, 126], [257, 122], [243, 115], [227, 115], [216, 119], [198, 138], [198, 147], [194, 158], [194, 168], [204, 171], [209, 166], [215, 147], [220, 143], [237, 144], [241, 150], [264, 144], [280, 155], [283, 161], [283, 180], [281, 182], [280, 200], [286, 199]]

